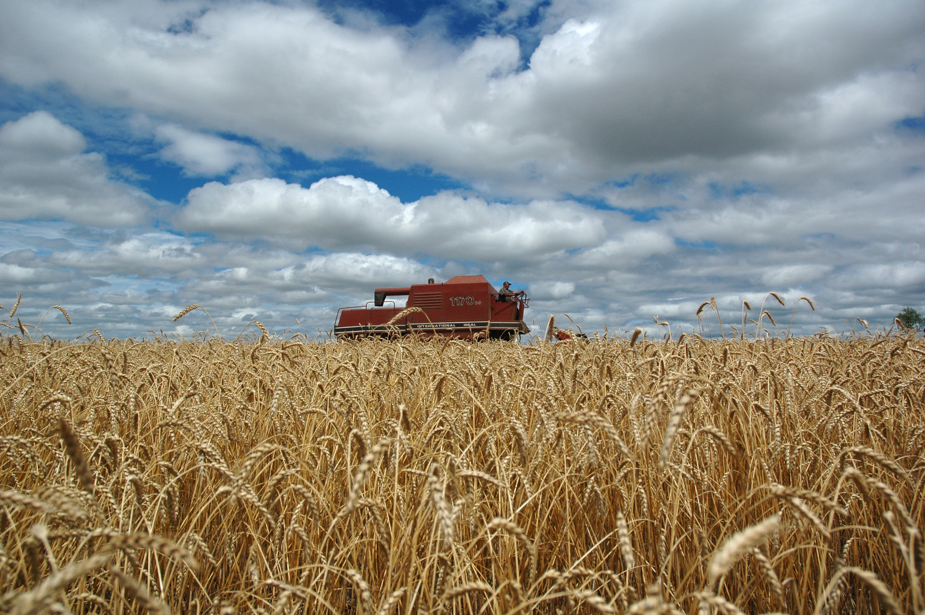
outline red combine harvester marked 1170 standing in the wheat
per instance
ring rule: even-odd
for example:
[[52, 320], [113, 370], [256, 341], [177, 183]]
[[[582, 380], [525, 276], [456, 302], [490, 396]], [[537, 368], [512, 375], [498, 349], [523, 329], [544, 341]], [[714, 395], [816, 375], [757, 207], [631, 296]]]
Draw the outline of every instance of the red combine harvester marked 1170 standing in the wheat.
[[[387, 297], [408, 297], [399, 307]], [[457, 276], [435, 284], [414, 284], [404, 289], [376, 289], [375, 300], [340, 308], [334, 324], [338, 338], [367, 335], [405, 335], [411, 332], [446, 338], [517, 339], [530, 329], [524, 324], [529, 303], [524, 292], [499, 292], [482, 276]], [[370, 303], [373, 303], [370, 306]], [[390, 303], [391, 305], [387, 305]], [[420, 308], [388, 325], [407, 308]]]

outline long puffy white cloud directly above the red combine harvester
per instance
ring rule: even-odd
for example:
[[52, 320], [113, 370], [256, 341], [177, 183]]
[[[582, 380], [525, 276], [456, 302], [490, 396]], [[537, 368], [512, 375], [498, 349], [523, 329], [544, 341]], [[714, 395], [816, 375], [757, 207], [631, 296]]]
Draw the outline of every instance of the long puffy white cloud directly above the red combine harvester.
[[489, 262], [594, 246], [605, 234], [599, 217], [576, 203], [508, 205], [449, 192], [401, 203], [351, 176], [307, 189], [277, 178], [210, 182], [191, 191], [188, 202], [177, 222], [196, 232]]

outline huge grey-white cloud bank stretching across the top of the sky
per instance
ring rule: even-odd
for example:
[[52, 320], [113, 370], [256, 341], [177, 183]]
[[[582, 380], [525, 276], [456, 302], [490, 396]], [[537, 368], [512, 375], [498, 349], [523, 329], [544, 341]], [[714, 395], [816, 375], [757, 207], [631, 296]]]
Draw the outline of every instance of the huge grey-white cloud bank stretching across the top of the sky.
[[[914, 0], [587, 4], [523, 71], [510, 36], [435, 53], [313, 6], [194, 6], [7, 5], [0, 74], [314, 157], [425, 162], [526, 195], [690, 157], [857, 144], [925, 106]], [[169, 29], [187, 18], [191, 29]]]

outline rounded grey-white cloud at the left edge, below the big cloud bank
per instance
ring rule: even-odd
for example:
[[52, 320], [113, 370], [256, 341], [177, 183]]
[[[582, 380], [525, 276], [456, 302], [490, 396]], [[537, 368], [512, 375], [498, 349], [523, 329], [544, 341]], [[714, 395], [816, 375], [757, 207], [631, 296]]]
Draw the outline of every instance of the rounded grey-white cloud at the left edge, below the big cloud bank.
[[140, 224], [154, 200], [108, 177], [100, 154], [83, 154], [78, 130], [45, 111], [0, 127], [0, 217], [62, 219], [97, 227]]

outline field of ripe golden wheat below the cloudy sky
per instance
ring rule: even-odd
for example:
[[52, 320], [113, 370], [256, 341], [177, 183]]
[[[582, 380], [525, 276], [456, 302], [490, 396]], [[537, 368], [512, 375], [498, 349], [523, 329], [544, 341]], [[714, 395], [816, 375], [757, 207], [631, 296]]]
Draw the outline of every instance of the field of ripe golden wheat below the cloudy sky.
[[0, 610], [919, 613], [925, 343], [0, 346]]

